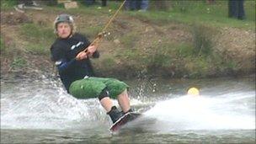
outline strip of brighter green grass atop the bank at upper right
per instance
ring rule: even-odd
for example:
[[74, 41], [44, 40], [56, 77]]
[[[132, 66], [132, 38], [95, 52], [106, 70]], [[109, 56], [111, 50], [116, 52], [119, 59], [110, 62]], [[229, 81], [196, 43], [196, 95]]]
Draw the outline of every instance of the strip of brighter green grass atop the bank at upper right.
[[[185, 10], [181, 10], [182, 8]], [[147, 11], [146, 13], [129, 12], [138, 19], [147, 19], [156, 24], [176, 22], [184, 24], [206, 24], [215, 27], [236, 27], [255, 29], [255, 1], [245, 1], [246, 19], [237, 20], [227, 17], [227, 1], [216, 1], [209, 5], [202, 1], [173, 1], [173, 8], [168, 11]]]

